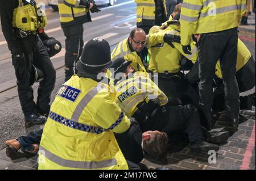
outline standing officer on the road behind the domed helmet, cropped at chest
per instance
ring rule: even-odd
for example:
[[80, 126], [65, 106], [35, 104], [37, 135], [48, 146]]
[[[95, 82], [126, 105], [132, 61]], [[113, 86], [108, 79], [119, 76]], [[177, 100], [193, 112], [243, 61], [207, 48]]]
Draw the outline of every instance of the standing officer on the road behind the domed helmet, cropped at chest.
[[[79, 60], [82, 47], [84, 47], [84, 27], [82, 25], [86, 22], [92, 22], [90, 12], [101, 10], [92, 0], [59, 0], [58, 7], [61, 28], [66, 37], [65, 81], [68, 81], [74, 74], [74, 64]], [[76, 68], [75, 73], [77, 73]]]

